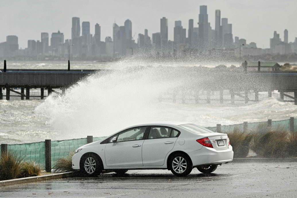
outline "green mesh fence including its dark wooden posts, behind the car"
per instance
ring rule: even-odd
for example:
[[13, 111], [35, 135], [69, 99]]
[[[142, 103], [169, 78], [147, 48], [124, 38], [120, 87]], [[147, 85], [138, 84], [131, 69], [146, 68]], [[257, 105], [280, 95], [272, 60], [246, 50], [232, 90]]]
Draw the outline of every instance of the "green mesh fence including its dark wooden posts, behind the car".
[[[277, 127], [282, 126], [284, 130], [295, 132], [297, 129], [297, 119], [291, 117], [288, 120], [272, 121], [269, 119], [266, 122], [244, 122], [241, 124], [221, 125], [206, 127], [214, 132], [232, 132], [235, 128], [240, 131], [249, 132], [255, 129], [259, 124], [267, 124], [267, 126]], [[33, 142], [26, 144], [1, 144], [1, 153], [12, 152], [17, 156], [24, 157], [24, 160], [34, 160], [40, 164], [47, 172], [51, 172], [55, 159], [66, 157], [70, 152], [75, 151], [80, 146], [102, 140], [105, 137], [88, 136], [86, 138], [58, 140], [45, 140], [44, 142]]]

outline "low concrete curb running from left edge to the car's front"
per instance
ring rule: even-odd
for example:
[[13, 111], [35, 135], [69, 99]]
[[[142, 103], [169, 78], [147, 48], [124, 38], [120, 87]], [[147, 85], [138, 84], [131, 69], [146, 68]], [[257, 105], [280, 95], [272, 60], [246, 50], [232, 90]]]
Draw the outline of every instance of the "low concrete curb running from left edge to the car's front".
[[27, 177], [27, 178], [3, 180], [3, 181], [0, 181], [0, 187], [1, 186], [10, 186], [10, 185], [22, 184], [22, 183], [30, 183], [30, 182], [37, 182], [37, 181], [67, 178], [67, 177], [71, 176], [72, 173], [73, 172], [63, 172], [63, 173], [42, 175], [42, 176], [36, 176], [36, 177]]

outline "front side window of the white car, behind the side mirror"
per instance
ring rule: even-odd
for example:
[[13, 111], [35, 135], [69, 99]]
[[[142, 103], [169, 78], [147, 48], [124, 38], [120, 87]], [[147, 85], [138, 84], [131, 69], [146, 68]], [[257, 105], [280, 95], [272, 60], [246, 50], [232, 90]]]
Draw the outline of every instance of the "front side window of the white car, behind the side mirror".
[[146, 131], [146, 126], [128, 129], [127, 131], [124, 131], [118, 135], [117, 142], [142, 140], [145, 131]]

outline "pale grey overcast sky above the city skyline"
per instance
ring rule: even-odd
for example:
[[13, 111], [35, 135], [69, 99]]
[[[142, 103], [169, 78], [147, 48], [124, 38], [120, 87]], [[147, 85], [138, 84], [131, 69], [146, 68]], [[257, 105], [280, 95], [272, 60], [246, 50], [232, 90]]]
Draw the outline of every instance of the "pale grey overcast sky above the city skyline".
[[64, 38], [71, 38], [71, 19], [76, 16], [101, 26], [101, 40], [112, 37], [113, 22], [124, 25], [132, 21], [132, 36], [137, 41], [144, 29], [152, 33], [160, 31], [160, 18], [168, 18], [169, 39], [173, 40], [175, 20], [181, 20], [188, 29], [188, 20], [194, 19], [198, 27], [199, 6], [207, 5], [208, 22], [215, 26], [215, 10], [221, 10], [221, 18], [232, 23], [233, 37], [256, 42], [257, 47], [269, 47], [269, 38], [276, 30], [283, 40], [284, 30], [289, 31], [289, 42], [297, 37], [297, 0], [0, 0], [0, 42], [7, 35], [16, 35], [19, 45], [27, 47], [27, 40], [40, 40], [41, 32], [60, 30]]

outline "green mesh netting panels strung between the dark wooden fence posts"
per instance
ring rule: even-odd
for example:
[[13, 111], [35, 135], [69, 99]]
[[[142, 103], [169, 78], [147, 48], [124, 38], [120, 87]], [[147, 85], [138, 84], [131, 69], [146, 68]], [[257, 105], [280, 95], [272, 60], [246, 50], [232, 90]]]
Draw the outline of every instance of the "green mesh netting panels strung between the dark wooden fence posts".
[[[255, 129], [259, 124], [267, 122], [247, 123], [248, 129]], [[272, 121], [272, 127], [282, 127], [282, 129], [290, 130], [290, 120]], [[243, 130], [244, 124], [233, 124], [221, 126], [221, 131], [232, 132], [237, 127]], [[207, 129], [216, 132], [217, 127], [207, 127]], [[294, 129], [297, 130], [297, 119], [294, 119]], [[105, 137], [93, 137], [93, 142], [102, 140]], [[51, 162], [55, 164], [55, 159], [66, 157], [71, 151], [75, 151], [82, 145], [87, 143], [87, 138], [59, 140], [51, 142]], [[40, 166], [45, 168], [45, 142], [34, 142], [28, 144], [11, 144], [7, 145], [8, 152], [13, 152], [17, 156], [24, 157], [24, 160], [34, 160]]]

